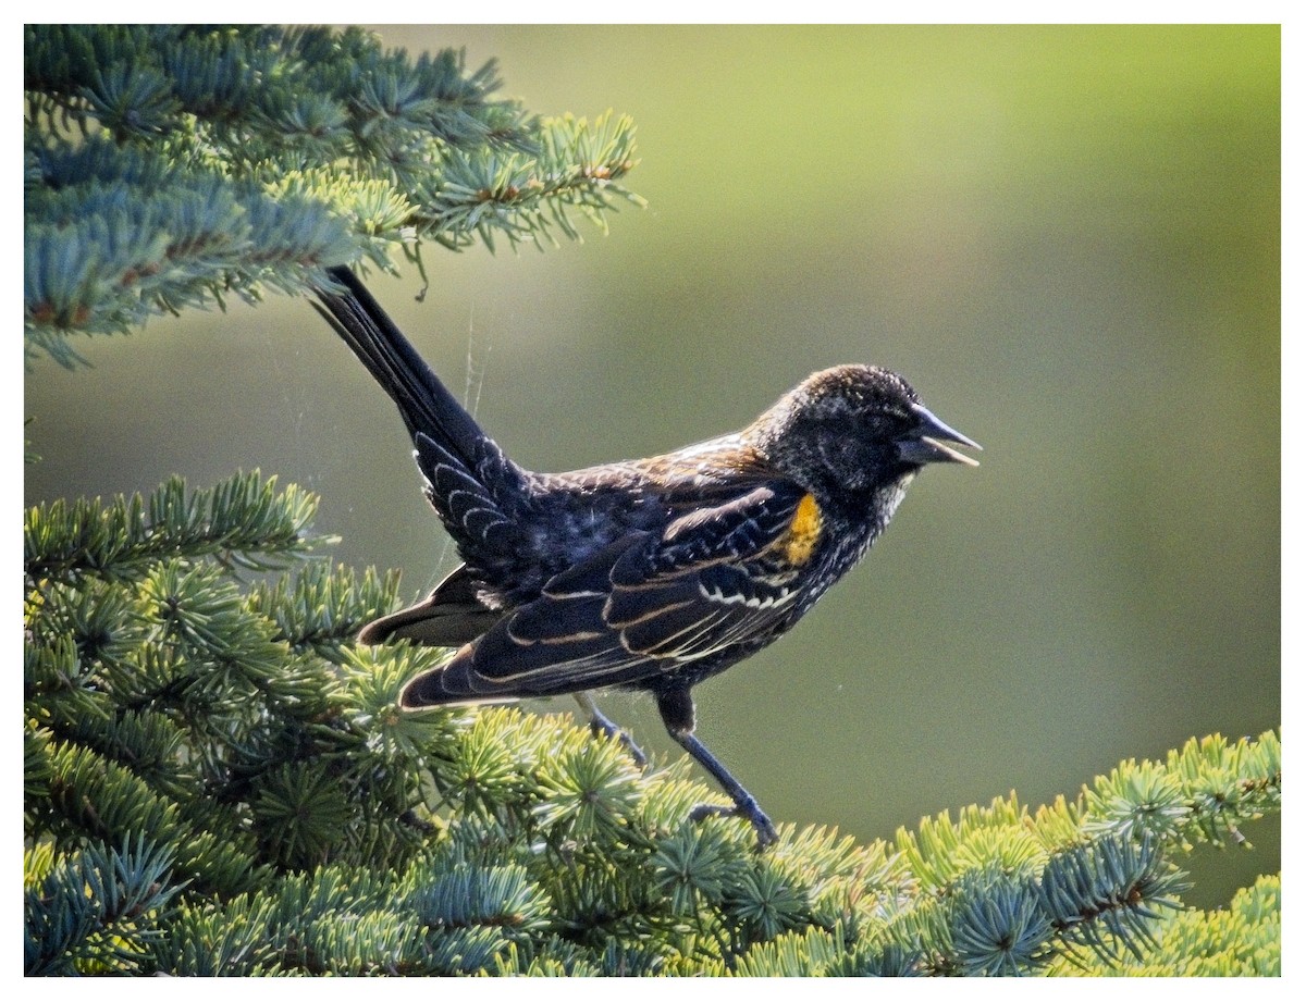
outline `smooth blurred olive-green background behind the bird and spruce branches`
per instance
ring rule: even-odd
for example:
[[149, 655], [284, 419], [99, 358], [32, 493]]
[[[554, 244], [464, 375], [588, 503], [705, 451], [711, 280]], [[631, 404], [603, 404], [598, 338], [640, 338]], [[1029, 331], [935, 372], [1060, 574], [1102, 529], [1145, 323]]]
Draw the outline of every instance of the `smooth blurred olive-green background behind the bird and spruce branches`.
[[[904, 373], [983, 444], [925, 472], [699, 733], [777, 821], [892, 836], [1280, 721], [1280, 35], [1238, 27], [380, 27], [628, 112], [610, 235], [428, 248], [374, 287], [518, 462], [663, 451], [808, 372]], [[303, 300], [85, 342], [26, 380], [29, 504], [260, 467], [334, 557], [452, 566], [389, 402]], [[470, 380], [469, 380], [470, 376]], [[649, 701], [602, 699], [663, 755]], [[539, 705], [569, 710], [569, 701]], [[1198, 904], [1279, 869], [1203, 852]]]

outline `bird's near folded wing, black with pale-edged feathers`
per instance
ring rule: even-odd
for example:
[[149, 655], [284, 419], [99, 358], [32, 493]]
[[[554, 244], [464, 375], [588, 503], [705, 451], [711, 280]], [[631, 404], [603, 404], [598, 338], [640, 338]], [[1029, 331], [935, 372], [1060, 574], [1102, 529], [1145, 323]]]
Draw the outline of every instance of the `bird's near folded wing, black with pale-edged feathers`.
[[811, 497], [782, 480], [750, 488], [555, 575], [538, 599], [410, 682], [404, 705], [627, 685], [780, 628], [797, 599], [790, 544]]

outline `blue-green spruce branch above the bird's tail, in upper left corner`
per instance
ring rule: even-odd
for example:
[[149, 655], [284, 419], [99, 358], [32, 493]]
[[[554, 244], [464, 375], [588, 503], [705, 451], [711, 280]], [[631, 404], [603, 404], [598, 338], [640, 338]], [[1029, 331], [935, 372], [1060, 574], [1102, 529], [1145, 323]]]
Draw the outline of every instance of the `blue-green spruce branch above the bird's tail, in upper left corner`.
[[296, 292], [422, 241], [579, 237], [633, 167], [633, 127], [495, 99], [494, 63], [410, 59], [358, 29], [27, 25], [29, 348]]

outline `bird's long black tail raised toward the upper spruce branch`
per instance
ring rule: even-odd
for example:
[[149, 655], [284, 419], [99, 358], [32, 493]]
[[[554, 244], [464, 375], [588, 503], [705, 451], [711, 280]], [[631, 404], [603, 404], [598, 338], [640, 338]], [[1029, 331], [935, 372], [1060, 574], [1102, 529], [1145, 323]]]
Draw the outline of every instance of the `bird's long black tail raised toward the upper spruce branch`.
[[398, 406], [427, 497], [464, 558], [481, 565], [487, 548], [516, 545], [529, 474], [481, 431], [353, 271], [328, 275], [346, 291], [317, 288], [313, 305]]

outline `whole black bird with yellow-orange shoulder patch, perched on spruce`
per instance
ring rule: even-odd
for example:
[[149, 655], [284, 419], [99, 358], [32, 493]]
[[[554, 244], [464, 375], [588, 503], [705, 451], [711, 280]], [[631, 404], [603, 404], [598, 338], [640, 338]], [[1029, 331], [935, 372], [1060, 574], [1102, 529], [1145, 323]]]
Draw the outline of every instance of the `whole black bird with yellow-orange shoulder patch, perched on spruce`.
[[[901, 376], [840, 365], [808, 376], [742, 432], [667, 455], [567, 474], [522, 470], [440, 384], [343, 267], [319, 312], [398, 404], [426, 496], [462, 566], [363, 643], [458, 647], [413, 678], [405, 708], [579, 694], [653, 694], [671, 737], [721, 784], [757, 840], [771, 819], [693, 735], [690, 690], [774, 641], [888, 524], [926, 463], [978, 449]], [[316, 304], [315, 304], [316, 305]], [[633, 749], [633, 745], [632, 745]], [[637, 754], [637, 750], [636, 750]]]

